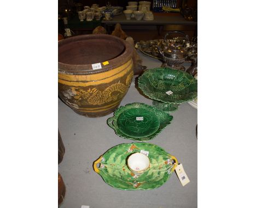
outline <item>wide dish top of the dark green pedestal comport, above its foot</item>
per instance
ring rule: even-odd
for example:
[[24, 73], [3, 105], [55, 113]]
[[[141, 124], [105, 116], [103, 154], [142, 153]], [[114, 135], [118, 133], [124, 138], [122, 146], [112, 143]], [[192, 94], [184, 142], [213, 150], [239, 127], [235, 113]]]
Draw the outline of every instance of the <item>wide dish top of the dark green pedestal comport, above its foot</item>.
[[138, 87], [151, 99], [164, 103], [182, 103], [197, 97], [197, 80], [187, 72], [170, 68], [145, 71], [138, 78]]

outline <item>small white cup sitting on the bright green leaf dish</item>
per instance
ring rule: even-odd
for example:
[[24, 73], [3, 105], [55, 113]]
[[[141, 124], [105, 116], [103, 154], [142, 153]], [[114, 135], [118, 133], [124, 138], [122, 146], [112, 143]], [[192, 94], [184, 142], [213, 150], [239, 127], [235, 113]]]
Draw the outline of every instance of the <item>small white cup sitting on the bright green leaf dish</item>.
[[149, 168], [149, 158], [140, 152], [131, 154], [127, 160], [127, 167], [135, 175], [141, 175]]

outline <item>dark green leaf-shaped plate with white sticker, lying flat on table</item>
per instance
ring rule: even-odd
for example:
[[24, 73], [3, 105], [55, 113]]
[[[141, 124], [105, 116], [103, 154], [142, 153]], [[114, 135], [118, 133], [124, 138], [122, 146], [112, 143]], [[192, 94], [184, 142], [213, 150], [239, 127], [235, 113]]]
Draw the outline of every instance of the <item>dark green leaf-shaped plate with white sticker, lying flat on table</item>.
[[115, 110], [107, 124], [118, 136], [139, 141], [156, 137], [172, 121], [172, 116], [144, 103], [130, 103]]

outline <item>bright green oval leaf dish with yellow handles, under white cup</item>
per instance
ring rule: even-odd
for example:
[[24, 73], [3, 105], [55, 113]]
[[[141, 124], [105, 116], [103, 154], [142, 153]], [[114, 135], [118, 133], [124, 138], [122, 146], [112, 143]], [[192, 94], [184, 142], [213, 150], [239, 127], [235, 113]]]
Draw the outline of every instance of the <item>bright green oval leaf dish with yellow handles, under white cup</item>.
[[[148, 151], [150, 167], [137, 176], [127, 167], [126, 159], [131, 154], [141, 151], [143, 154]], [[100, 167], [97, 167], [98, 163]], [[115, 188], [146, 190], [162, 186], [170, 178], [177, 164], [177, 159], [160, 146], [150, 143], [126, 143], [114, 146], [98, 158], [94, 162], [94, 170], [106, 183]]]

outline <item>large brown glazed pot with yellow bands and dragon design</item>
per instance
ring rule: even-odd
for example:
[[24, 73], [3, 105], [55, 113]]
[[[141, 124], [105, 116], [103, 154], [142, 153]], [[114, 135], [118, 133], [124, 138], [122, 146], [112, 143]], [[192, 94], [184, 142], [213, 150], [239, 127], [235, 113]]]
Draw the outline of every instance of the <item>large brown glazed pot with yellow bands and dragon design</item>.
[[[92, 69], [99, 63], [101, 69]], [[59, 41], [59, 96], [76, 113], [112, 113], [133, 77], [132, 46], [113, 35], [78, 35]]]

